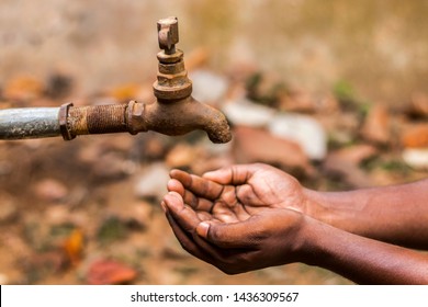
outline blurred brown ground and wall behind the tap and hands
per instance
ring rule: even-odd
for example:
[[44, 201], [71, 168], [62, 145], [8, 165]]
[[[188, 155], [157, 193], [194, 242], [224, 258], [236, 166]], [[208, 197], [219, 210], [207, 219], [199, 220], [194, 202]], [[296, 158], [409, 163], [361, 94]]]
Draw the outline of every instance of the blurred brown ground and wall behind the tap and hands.
[[0, 107], [150, 102], [178, 16], [193, 95], [234, 139], [0, 140], [0, 284], [349, 284], [303, 264], [226, 276], [190, 257], [168, 171], [267, 162], [311, 189], [428, 173], [428, 1], [1, 0]]

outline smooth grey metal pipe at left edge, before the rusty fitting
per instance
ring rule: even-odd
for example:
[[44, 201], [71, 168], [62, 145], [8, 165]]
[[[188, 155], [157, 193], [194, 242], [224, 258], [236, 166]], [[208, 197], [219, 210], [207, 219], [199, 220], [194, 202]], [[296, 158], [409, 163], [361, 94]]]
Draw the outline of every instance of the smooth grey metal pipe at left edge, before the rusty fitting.
[[0, 139], [60, 136], [59, 107], [0, 110]]

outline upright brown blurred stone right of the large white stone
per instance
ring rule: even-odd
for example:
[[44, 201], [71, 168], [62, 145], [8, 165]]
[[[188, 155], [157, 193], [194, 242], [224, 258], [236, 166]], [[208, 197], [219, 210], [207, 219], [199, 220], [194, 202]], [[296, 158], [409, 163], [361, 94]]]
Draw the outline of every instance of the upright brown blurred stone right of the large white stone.
[[361, 128], [361, 136], [374, 144], [384, 145], [391, 140], [391, 116], [385, 105], [372, 106]]

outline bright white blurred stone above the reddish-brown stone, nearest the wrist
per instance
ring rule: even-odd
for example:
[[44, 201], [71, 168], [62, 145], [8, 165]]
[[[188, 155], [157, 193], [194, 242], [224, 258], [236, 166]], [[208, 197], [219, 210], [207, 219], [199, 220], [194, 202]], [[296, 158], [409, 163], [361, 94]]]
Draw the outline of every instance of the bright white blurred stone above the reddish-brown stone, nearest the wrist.
[[327, 136], [323, 126], [307, 115], [286, 113], [273, 116], [269, 123], [272, 135], [295, 141], [313, 160], [322, 160], [327, 154]]

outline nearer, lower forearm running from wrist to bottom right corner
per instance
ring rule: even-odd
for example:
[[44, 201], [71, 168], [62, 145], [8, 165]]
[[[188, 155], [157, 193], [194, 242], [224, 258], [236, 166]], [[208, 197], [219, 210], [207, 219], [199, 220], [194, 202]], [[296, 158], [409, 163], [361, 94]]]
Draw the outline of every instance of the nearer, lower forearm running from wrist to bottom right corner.
[[360, 237], [318, 220], [303, 228], [304, 262], [358, 284], [428, 284], [428, 255]]

